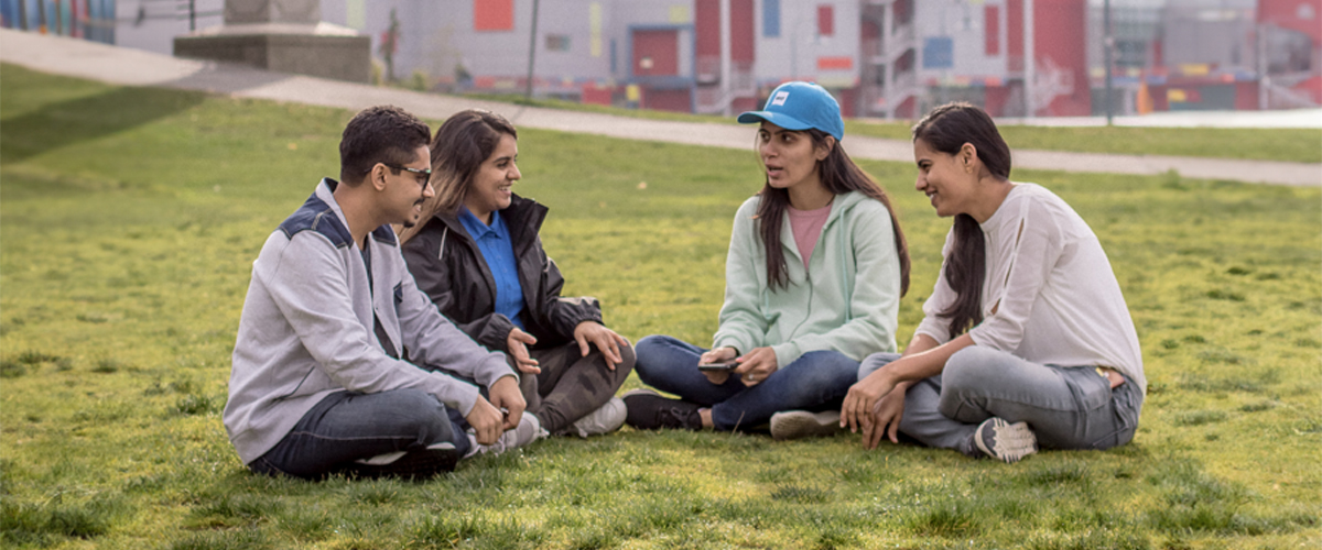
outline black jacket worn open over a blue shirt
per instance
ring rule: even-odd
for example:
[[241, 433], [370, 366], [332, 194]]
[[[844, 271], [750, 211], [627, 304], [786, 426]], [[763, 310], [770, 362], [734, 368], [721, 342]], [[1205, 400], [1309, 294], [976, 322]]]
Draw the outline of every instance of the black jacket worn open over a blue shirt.
[[[533, 348], [563, 346], [574, 339], [574, 327], [584, 321], [602, 322], [596, 298], [561, 298], [564, 278], [546, 256], [537, 232], [547, 208], [514, 195], [500, 211], [509, 227], [518, 284], [524, 288], [524, 326], [537, 336]], [[496, 313], [496, 280], [473, 237], [457, 216], [438, 214], [403, 245], [405, 261], [418, 288], [431, 297], [440, 313], [489, 350], [509, 351], [506, 339], [514, 323]]]

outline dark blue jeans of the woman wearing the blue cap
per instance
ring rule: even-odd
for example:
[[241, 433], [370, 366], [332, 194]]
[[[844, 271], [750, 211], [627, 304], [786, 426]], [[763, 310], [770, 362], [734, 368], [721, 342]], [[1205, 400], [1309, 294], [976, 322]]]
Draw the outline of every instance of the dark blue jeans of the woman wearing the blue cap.
[[639, 340], [633, 351], [637, 355], [633, 372], [640, 380], [685, 401], [710, 406], [711, 423], [723, 431], [763, 425], [781, 410], [825, 410], [833, 405], [838, 409], [858, 376], [858, 361], [843, 353], [810, 351], [780, 365], [752, 388], [735, 376], [717, 385], [698, 371], [703, 348], [653, 335]]

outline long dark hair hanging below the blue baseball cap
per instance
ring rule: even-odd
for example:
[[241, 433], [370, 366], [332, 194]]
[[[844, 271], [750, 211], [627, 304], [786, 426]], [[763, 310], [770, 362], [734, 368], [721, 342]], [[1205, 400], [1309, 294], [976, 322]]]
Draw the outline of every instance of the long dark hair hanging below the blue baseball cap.
[[[829, 146], [826, 132], [816, 128], [802, 132], [812, 137], [814, 148]], [[900, 295], [903, 297], [908, 293], [908, 241], [904, 240], [904, 231], [900, 229], [900, 220], [895, 216], [895, 208], [891, 207], [891, 198], [886, 190], [876, 185], [863, 169], [858, 168], [849, 158], [849, 154], [845, 154], [845, 149], [839, 146], [838, 141], [830, 148], [826, 158], [817, 162], [817, 170], [822, 185], [830, 193], [839, 195], [859, 191], [886, 204], [886, 210], [891, 214], [891, 226], [895, 228], [895, 252], [900, 257]], [[758, 204], [758, 226], [761, 241], [767, 247], [767, 286], [787, 288], [789, 286], [789, 274], [787, 273], [785, 255], [780, 249], [780, 227], [784, 222], [785, 208], [789, 207], [789, 191], [772, 187], [771, 182], [767, 182], [759, 194], [761, 202]]]

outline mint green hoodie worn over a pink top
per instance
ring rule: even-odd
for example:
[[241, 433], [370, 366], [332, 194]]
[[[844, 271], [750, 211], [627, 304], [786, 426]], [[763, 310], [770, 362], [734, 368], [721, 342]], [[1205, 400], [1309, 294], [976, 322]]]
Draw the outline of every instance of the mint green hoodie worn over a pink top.
[[726, 303], [713, 347], [740, 353], [771, 346], [777, 368], [818, 350], [862, 361], [895, 351], [900, 261], [886, 204], [862, 193], [836, 195], [809, 268], [795, 245], [789, 214], [780, 229], [789, 286], [767, 286], [767, 253], [754, 216], [760, 195], [735, 214], [726, 259]]

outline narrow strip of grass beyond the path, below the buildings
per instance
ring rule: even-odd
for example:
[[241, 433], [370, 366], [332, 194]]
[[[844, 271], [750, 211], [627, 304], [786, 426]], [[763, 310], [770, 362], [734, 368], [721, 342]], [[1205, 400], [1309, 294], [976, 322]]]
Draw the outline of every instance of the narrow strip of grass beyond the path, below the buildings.
[[[509, 95], [473, 98], [520, 106], [600, 112], [616, 116], [686, 123], [736, 124], [732, 117], [665, 111], [625, 109], [555, 99], [512, 99]], [[915, 120], [845, 120], [847, 136], [908, 141]], [[1162, 154], [1174, 157], [1244, 158], [1259, 161], [1322, 162], [1322, 128], [1132, 128], [1002, 125], [1011, 149], [1075, 150], [1084, 153]]]

